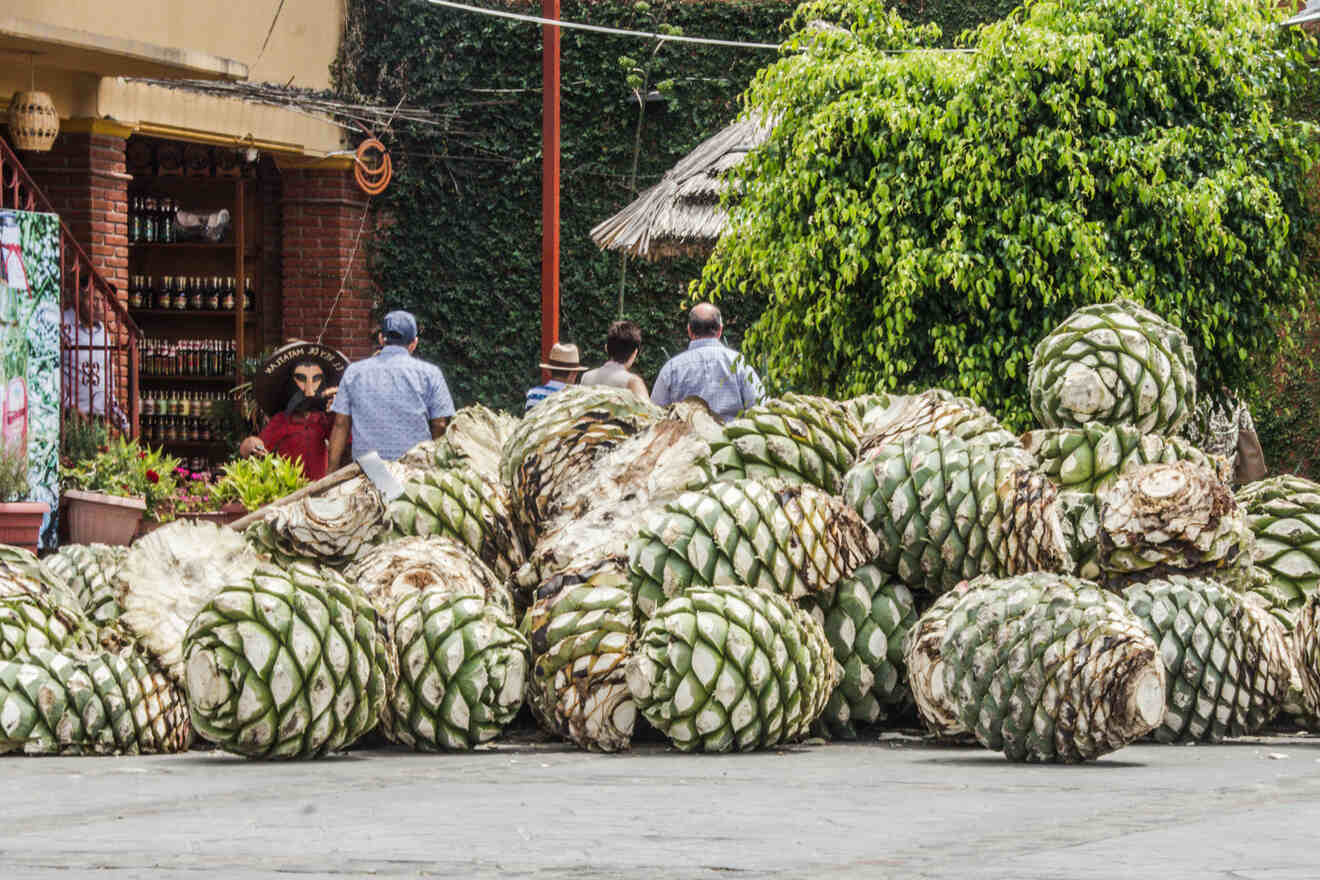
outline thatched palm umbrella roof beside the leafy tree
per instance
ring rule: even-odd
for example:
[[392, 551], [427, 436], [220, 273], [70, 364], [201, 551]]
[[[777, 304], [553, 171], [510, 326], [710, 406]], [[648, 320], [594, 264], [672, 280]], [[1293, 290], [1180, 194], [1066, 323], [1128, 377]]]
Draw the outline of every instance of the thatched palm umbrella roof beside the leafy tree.
[[710, 253], [729, 219], [719, 207], [723, 174], [766, 142], [770, 131], [770, 124], [751, 119], [708, 137], [659, 183], [598, 223], [591, 240], [648, 260]]

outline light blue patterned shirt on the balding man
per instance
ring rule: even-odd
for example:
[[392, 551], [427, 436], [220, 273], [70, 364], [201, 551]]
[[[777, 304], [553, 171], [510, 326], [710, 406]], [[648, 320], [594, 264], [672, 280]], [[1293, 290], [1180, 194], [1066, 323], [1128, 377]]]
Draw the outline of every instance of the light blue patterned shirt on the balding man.
[[665, 361], [651, 389], [651, 401], [668, 406], [700, 397], [722, 422], [760, 402], [766, 396], [756, 371], [718, 339], [693, 339], [688, 351]]

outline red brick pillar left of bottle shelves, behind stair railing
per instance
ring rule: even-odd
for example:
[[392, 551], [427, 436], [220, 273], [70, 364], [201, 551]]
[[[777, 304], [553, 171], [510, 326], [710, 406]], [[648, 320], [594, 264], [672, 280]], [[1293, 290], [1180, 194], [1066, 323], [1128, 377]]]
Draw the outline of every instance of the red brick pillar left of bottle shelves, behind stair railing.
[[50, 199], [92, 265], [128, 303], [128, 131], [70, 120], [49, 153], [22, 153], [24, 168]]

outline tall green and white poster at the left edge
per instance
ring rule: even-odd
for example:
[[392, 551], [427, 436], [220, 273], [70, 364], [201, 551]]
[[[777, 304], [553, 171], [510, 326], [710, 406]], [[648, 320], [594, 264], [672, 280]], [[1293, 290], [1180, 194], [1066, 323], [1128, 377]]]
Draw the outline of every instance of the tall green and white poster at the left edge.
[[59, 218], [0, 211], [0, 449], [26, 458], [28, 499], [59, 503]]

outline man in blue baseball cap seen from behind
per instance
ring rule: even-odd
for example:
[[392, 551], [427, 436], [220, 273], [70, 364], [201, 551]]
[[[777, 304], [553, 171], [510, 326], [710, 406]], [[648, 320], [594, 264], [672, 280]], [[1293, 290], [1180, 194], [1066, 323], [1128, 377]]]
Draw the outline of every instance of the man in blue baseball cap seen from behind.
[[348, 434], [354, 455], [375, 451], [395, 460], [417, 443], [445, 433], [454, 401], [440, 367], [412, 356], [417, 319], [391, 311], [380, 322], [380, 354], [350, 364], [335, 394], [330, 470], [343, 463]]

